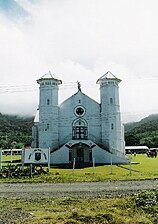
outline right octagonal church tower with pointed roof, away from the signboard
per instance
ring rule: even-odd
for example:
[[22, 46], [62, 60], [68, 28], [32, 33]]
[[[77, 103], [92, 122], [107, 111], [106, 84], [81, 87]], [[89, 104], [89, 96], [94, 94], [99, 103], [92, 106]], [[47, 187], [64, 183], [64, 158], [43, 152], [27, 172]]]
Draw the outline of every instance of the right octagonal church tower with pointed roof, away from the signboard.
[[124, 153], [124, 133], [121, 125], [119, 83], [111, 72], [97, 80], [100, 84], [102, 147], [119, 155]]

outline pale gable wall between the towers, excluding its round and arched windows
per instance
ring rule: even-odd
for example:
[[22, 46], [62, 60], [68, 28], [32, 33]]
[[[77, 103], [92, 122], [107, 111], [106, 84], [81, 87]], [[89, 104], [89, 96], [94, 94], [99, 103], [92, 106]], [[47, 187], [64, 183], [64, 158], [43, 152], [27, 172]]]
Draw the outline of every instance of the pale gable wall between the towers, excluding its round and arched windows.
[[64, 144], [72, 138], [72, 123], [78, 116], [75, 115], [75, 108], [82, 106], [86, 113], [81, 117], [88, 124], [88, 138], [100, 142], [100, 105], [78, 91], [72, 97], [60, 105], [59, 111], [59, 144]]

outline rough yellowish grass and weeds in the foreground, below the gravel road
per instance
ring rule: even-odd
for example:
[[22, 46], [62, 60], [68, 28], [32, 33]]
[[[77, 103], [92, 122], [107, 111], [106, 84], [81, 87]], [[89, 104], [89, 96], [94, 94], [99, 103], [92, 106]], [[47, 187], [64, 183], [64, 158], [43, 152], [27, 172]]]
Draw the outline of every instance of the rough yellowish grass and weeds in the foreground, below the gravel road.
[[[2, 223], [156, 224], [158, 191], [126, 198], [0, 198]], [[14, 214], [14, 215], [13, 215]]]

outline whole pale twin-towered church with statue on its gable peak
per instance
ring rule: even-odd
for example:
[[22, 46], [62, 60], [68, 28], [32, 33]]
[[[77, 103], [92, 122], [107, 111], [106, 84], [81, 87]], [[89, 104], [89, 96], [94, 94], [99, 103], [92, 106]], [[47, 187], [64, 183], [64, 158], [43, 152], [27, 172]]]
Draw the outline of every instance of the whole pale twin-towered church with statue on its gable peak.
[[62, 80], [51, 72], [37, 80], [39, 106], [32, 127], [32, 148], [49, 148], [53, 165], [127, 163], [121, 123], [119, 83], [111, 72], [101, 76], [100, 103], [77, 91], [58, 103]]

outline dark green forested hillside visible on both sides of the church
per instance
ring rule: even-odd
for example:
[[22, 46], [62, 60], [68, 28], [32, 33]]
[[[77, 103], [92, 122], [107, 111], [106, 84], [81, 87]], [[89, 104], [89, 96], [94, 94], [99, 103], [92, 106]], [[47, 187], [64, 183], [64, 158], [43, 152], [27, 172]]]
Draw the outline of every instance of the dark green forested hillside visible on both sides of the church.
[[[0, 148], [21, 148], [31, 145], [33, 117], [4, 115], [0, 113]], [[125, 126], [126, 145], [158, 147], [158, 114]]]

